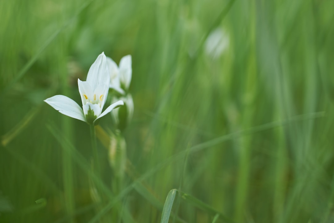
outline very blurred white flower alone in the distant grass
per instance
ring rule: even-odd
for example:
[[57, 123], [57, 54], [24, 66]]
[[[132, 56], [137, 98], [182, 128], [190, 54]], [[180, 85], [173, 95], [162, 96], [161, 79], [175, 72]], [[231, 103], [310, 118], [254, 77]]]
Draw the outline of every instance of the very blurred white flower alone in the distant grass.
[[216, 59], [227, 49], [229, 37], [221, 28], [213, 30], [205, 40], [205, 52]]

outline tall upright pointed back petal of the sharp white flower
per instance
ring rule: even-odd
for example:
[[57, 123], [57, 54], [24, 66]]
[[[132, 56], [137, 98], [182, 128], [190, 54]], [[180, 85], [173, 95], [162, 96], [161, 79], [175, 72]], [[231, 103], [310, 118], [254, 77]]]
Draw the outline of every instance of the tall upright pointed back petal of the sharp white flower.
[[90, 83], [93, 91], [100, 85], [109, 86], [110, 74], [107, 65], [107, 58], [102, 52], [88, 71], [87, 82]]

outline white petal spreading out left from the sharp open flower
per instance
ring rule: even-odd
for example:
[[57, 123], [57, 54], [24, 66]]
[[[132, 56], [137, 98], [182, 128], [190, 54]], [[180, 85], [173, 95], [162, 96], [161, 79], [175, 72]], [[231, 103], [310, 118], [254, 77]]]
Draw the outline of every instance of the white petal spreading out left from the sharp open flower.
[[64, 95], [55, 95], [44, 101], [59, 111], [61, 114], [86, 122], [86, 118], [85, 115], [83, 115], [82, 109], [72, 99]]

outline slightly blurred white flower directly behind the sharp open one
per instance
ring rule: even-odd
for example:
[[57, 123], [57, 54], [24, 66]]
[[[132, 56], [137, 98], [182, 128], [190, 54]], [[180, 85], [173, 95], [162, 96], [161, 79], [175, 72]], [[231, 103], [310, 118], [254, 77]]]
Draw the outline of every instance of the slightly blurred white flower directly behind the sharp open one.
[[110, 88], [118, 91], [122, 95], [129, 90], [132, 76], [132, 60], [131, 55], [126, 55], [120, 61], [120, 66], [109, 57], [107, 57], [107, 64], [110, 72]]

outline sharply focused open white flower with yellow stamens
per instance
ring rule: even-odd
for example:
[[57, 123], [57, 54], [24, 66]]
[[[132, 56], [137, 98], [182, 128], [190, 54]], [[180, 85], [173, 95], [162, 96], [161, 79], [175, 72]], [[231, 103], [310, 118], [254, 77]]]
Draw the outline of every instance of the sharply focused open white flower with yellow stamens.
[[55, 95], [44, 101], [64, 115], [85, 121], [88, 124], [97, 124], [98, 119], [111, 112], [114, 108], [124, 105], [124, 102], [120, 100], [102, 112], [107, 100], [109, 84], [110, 74], [107, 58], [102, 52], [89, 69], [87, 80], [80, 81], [78, 79], [82, 109], [75, 101], [64, 95]]

